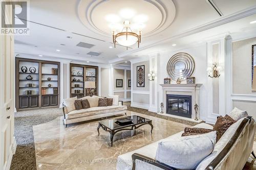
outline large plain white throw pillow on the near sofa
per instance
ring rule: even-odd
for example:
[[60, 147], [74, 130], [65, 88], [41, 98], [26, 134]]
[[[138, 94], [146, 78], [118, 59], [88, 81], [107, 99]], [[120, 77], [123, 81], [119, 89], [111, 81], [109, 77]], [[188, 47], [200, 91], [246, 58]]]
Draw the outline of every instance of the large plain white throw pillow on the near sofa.
[[195, 169], [216, 144], [216, 131], [158, 143], [156, 160], [178, 169]]

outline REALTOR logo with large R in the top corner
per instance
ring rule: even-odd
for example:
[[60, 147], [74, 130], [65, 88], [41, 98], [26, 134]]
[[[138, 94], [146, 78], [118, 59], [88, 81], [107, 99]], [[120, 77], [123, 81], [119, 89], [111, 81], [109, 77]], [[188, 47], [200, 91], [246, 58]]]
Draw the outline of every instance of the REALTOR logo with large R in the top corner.
[[28, 35], [28, 1], [2, 1], [1, 34]]

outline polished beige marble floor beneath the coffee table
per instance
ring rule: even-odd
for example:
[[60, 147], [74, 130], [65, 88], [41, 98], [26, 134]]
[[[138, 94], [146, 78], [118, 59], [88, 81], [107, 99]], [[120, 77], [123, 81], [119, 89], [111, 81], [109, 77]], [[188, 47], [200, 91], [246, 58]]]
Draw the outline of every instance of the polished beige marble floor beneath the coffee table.
[[[37, 169], [116, 169], [119, 155], [190, 127], [133, 111], [127, 111], [127, 114], [152, 119], [153, 133], [151, 134], [151, 127], [148, 125], [135, 131], [122, 131], [115, 134], [111, 147], [109, 132], [100, 129], [98, 136], [98, 120], [72, 124], [65, 128], [62, 117], [57, 117], [51, 122], [33, 126]], [[256, 144], [253, 148], [256, 151]], [[256, 169], [254, 161], [250, 157], [244, 169]]]

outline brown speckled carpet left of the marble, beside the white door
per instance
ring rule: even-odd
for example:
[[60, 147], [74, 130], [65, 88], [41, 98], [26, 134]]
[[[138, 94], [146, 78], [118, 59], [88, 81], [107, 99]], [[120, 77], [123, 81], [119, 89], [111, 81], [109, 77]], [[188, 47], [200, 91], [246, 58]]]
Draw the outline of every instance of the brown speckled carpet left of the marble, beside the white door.
[[14, 136], [17, 142], [11, 168], [15, 170], [36, 169], [33, 126], [49, 122], [62, 115], [60, 108], [22, 111], [14, 114]]

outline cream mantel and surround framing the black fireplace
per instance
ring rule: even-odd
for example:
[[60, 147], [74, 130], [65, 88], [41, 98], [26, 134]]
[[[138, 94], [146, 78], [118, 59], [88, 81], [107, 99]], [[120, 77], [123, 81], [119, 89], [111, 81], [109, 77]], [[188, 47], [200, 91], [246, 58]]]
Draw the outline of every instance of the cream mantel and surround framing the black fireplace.
[[[163, 113], [166, 114], [166, 94], [176, 94], [176, 95], [191, 95], [191, 104], [192, 104], [192, 116], [191, 120], [196, 118], [196, 112], [194, 106], [198, 104], [200, 108], [200, 87], [202, 84], [160, 84], [163, 90]], [[180, 118], [184, 118], [178, 116]], [[197, 113], [197, 118], [200, 119], [200, 109]], [[187, 119], [187, 118], [186, 118]], [[188, 118], [190, 119], [190, 118]]]

